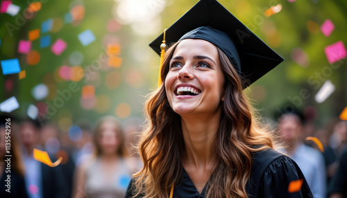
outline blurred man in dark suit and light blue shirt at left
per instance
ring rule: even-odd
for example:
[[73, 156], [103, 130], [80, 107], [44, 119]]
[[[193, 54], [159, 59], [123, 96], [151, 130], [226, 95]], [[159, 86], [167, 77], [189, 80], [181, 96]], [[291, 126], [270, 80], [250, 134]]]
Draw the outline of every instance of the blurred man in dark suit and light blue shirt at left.
[[[33, 149], [43, 150], [40, 144], [40, 123], [30, 118], [20, 126], [22, 144], [24, 145], [24, 165], [26, 168], [26, 189], [31, 198], [69, 197], [65, 179], [60, 165], [51, 168], [49, 165], [33, 158]], [[51, 161], [56, 161], [50, 156]]]

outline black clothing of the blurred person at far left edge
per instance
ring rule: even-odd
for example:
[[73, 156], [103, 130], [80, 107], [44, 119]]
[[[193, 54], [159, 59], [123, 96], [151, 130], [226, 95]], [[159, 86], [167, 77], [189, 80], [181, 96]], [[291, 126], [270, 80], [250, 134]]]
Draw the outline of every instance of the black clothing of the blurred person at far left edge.
[[7, 181], [5, 180], [7, 179], [8, 173], [6, 173], [6, 169], [4, 169], [0, 180], [0, 197], [28, 198], [24, 177], [20, 176], [13, 168], [9, 174], [11, 179], [10, 192], [6, 192], [6, 189], [8, 188], [5, 186], [7, 184]]

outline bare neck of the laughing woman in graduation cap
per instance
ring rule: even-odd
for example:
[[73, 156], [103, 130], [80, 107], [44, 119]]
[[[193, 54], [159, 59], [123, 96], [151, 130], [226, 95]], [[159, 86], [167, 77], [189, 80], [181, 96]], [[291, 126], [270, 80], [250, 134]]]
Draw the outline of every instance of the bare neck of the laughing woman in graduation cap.
[[221, 110], [215, 114], [181, 116], [185, 153], [183, 165], [197, 169], [211, 168], [216, 156], [215, 135], [219, 128]]

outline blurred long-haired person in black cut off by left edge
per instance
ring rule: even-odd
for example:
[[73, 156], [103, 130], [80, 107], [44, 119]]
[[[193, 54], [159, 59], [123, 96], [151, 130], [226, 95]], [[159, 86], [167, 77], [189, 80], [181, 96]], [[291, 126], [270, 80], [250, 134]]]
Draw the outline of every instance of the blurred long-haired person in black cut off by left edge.
[[[19, 152], [20, 145], [17, 143], [17, 129], [13, 126], [14, 120], [10, 118], [9, 122], [6, 119], [10, 116], [0, 116], [0, 197], [7, 198], [26, 198], [26, 185], [24, 180], [24, 165], [22, 162], [22, 155]], [[10, 125], [6, 124], [10, 123]], [[9, 127], [6, 127], [9, 126]], [[8, 134], [10, 138], [8, 138]], [[8, 141], [9, 140], [9, 141]], [[6, 155], [6, 143], [10, 143], [10, 168]], [[8, 168], [8, 169], [7, 169]], [[8, 187], [8, 175], [10, 175], [10, 192], [6, 192]]]

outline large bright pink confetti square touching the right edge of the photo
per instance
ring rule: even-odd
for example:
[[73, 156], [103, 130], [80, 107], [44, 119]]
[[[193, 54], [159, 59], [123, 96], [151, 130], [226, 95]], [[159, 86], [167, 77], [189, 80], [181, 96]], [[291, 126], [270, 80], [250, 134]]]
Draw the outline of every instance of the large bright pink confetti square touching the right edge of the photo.
[[326, 46], [324, 48], [324, 52], [330, 64], [344, 59], [347, 56], [346, 48], [344, 43], [341, 41], [331, 44], [330, 46]]

